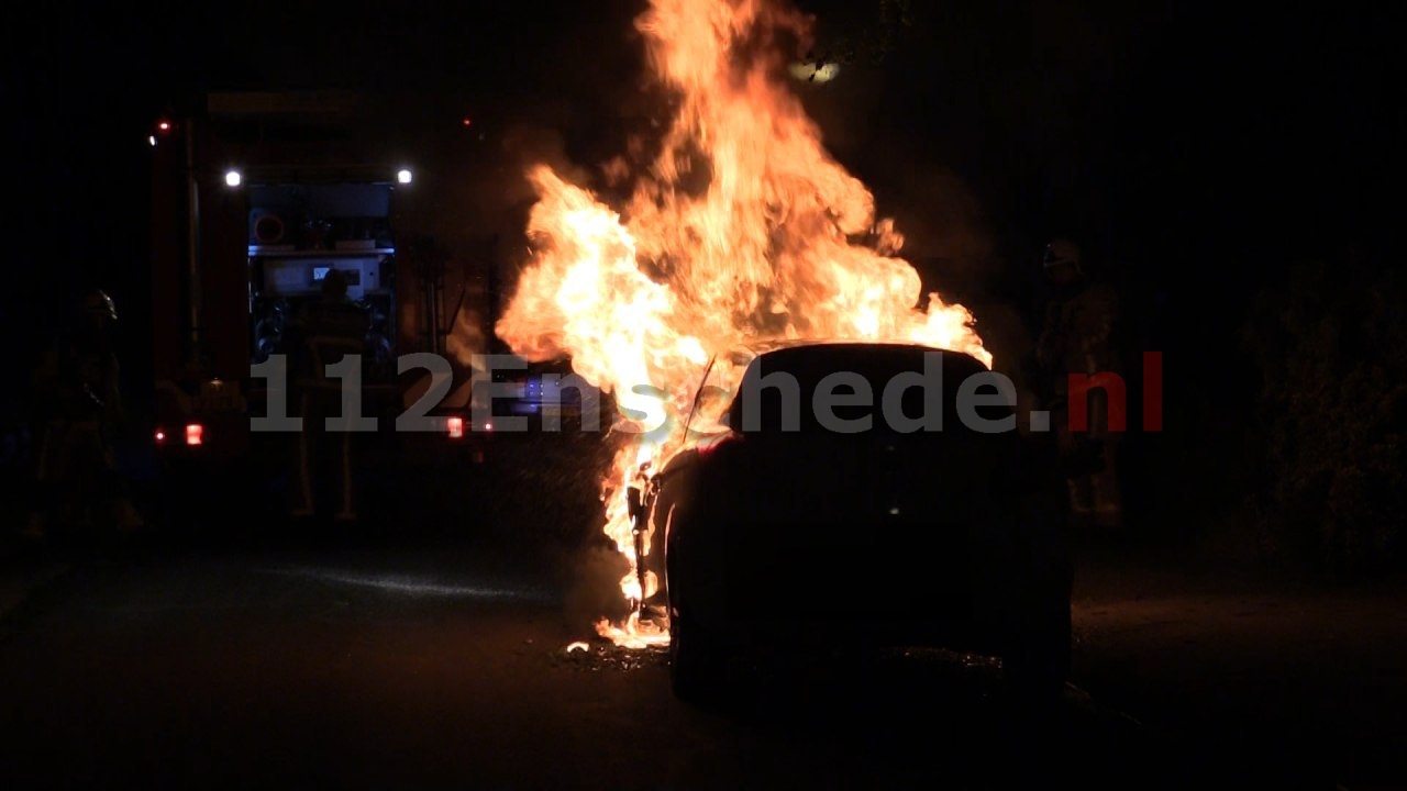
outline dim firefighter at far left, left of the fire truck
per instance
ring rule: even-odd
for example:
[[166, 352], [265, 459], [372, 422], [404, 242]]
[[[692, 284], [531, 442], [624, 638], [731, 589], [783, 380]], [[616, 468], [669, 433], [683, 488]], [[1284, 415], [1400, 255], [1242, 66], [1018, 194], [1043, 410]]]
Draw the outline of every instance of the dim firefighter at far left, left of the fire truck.
[[32, 539], [53, 529], [107, 539], [142, 526], [114, 453], [124, 419], [115, 324], [111, 297], [90, 293], [76, 325], [59, 335], [35, 372], [41, 501], [27, 529]]

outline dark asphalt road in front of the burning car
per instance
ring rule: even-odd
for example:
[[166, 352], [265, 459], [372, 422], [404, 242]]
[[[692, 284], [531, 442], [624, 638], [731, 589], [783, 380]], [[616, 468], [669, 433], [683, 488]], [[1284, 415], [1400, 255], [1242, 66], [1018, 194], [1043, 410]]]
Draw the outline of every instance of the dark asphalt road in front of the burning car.
[[1269, 778], [1075, 687], [1048, 719], [1017, 715], [979, 657], [777, 670], [691, 708], [660, 650], [567, 650], [591, 639], [580, 581], [592, 577], [557, 560], [490, 539], [322, 536], [73, 566], [4, 621], [3, 776], [25, 788]]

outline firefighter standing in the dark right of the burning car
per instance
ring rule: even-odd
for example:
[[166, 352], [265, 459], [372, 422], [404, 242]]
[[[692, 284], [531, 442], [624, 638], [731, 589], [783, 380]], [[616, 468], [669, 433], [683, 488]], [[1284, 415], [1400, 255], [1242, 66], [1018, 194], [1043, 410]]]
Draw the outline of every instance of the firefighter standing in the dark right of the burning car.
[[[1068, 464], [1071, 510], [1097, 524], [1119, 526], [1123, 510], [1116, 474], [1119, 432], [1109, 426], [1109, 394], [1103, 388], [1090, 388], [1088, 394], [1068, 391], [1069, 374], [1124, 374], [1114, 342], [1119, 294], [1090, 276], [1079, 246], [1069, 239], [1052, 239], [1041, 266], [1052, 298], [1036, 349], [1038, 387]], [[1088, 398], [1088, 431], [1071, 431], [1072, 396]]]

